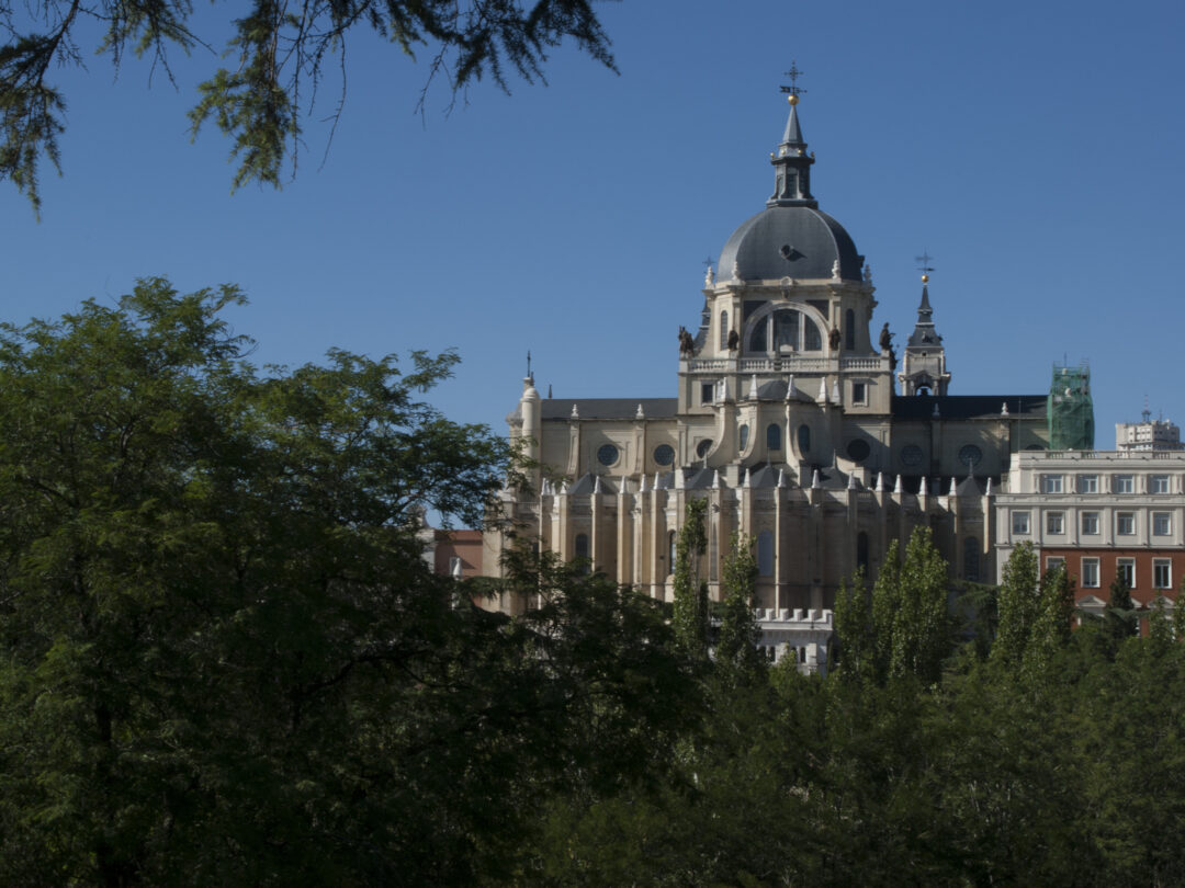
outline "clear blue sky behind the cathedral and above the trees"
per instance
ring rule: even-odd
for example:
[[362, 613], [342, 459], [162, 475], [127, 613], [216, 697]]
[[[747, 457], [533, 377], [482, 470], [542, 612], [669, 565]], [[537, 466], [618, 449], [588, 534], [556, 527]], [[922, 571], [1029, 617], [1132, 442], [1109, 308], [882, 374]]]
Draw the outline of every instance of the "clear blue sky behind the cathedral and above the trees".
[[450, 115], [436, 86], [418, 116], [427, 69], [359, 36], [324, 165], [332, 79], [280, 192], [230, 194], [229, 143], [190, 143], [209, 54], [174, 58], [175, 90], [134, 59], [57, 72], [65, 175], [44, 176], [40, 223], [5, 186], [4, 318], [147, 275], [232, 282], [261, 363], [456, 348], [434, 399], [459, 420], [505, 429], [527, 349], [557, 398], [671, 397], [703, 260], [771, 191], [793, 59], [820, 208], [872, 266], [873, 332], [911, 329], [925, 250], [952, 393], [1042, 393], [1055, 361], [1088, 360], [1096, 446], [1145, 398], [1185, 422], [1185, 6], [600, 8], [620, 76], [563, 47], [549, 85], [481, 83]]

